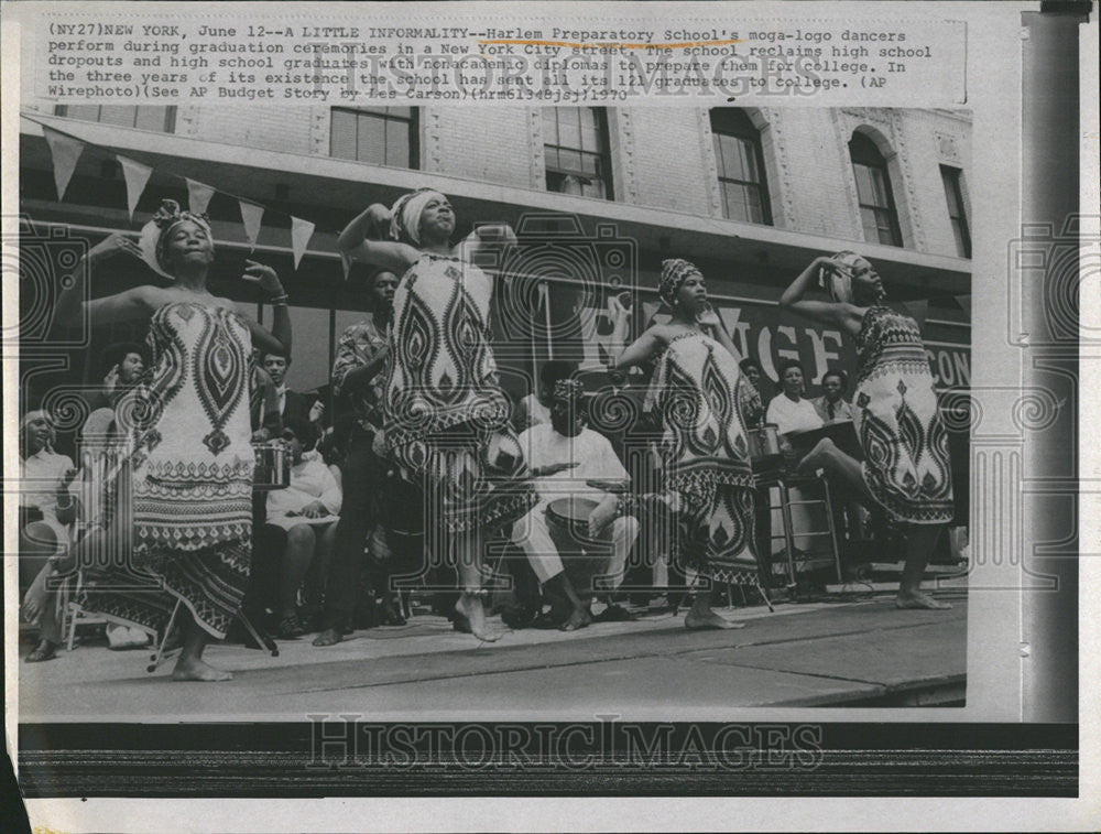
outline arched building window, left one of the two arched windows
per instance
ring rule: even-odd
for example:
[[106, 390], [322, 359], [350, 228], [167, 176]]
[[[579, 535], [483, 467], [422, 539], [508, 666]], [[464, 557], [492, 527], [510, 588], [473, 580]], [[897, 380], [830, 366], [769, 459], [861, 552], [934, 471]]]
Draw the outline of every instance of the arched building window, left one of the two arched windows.
[[761, 133], [744, 110], [711, 110], [711, 138], [719, 167], [722, 216], [741, 223], [772, 225], [768, 183], [761, 153]]

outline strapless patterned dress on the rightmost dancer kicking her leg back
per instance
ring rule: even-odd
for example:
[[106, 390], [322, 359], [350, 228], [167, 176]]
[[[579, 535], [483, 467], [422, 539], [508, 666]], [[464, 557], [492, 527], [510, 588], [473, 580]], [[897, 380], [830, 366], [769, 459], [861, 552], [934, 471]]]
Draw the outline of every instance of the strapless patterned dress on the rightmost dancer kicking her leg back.
[[864, 484], [896, 521], [951, 521], [948, 433], [917, 323], [890, 307], [871, 307], [857, 350], [852, 416]]

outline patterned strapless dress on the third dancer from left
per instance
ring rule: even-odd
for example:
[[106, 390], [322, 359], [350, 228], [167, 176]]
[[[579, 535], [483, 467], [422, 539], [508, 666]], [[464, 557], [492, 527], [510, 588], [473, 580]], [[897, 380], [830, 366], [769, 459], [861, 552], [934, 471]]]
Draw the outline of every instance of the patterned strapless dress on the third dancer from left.
[[722, 345], [687, 332], [658, 358], [646, 409], [661, 419], [665, 485], [683, 505], [671, 555], [718, 582], [755, 585], [755, 491], [745, 427], [760, 419], [756, 389]]

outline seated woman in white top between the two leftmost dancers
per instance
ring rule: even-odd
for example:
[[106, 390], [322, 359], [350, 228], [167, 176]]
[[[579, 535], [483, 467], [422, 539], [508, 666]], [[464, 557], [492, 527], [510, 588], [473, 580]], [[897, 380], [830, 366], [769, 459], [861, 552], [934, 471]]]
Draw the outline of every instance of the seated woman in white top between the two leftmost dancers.
[[298, 591], [310, 565], [324, 572], [336, 537], [341, 492], [329, 467], [319, 458], [306, 459], [303, 453], [317, 442], [312, 423], [283, 430], [291, 450], [291, 485], [268, 494], [265, 532], [275, 531], [284, 539], [280, 565], [276, 636], [294, 638], [304, 635], [298, 618]]

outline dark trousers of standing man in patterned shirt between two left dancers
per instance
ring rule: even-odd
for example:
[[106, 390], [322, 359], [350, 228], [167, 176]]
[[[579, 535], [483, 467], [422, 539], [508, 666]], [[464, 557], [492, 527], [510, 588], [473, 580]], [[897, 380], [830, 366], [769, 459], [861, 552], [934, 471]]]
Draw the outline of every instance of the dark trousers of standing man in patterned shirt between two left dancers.
[[385, 475], [384, 463], [371, 451], [373, 437], [359, 424], [353, 426], [348, 440], [348, 455], [340, 467], [344, 503], [325, 586], [326, 628], [349, 625], [358, 602], [363, 550], [378, 516], [375, 491]]

